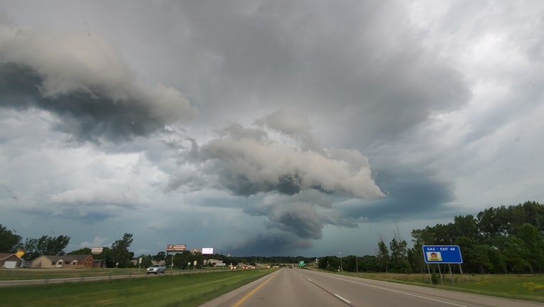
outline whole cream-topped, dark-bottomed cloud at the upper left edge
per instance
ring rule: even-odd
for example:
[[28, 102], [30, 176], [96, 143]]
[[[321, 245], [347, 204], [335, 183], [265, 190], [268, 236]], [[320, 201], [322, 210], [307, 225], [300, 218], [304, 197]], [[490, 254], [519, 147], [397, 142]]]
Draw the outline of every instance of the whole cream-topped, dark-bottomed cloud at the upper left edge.
[[146, 136], [195, 110], [173, 87], [138, 82], [103, 36], [0, 25], [0, 107], [45, 109], [78, 139]]

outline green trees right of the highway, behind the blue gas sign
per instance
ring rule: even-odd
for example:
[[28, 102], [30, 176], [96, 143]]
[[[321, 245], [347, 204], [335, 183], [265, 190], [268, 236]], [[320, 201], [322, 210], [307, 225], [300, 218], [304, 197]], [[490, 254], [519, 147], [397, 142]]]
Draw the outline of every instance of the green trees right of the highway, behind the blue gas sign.
[[[380, 236], [375, 256], [328, 256], [322, 269], [423, 273], [423, 245], [459, 245], [464, 273], [535, 274], [544, 271], [544, 205], [528, 201], [488, 208], [474, 215], [455, 216], [453, 222], [412, 230], [412, 248], [399, 230], [387, 244]], [[434, 269], [434, 267], [432, 268]]]

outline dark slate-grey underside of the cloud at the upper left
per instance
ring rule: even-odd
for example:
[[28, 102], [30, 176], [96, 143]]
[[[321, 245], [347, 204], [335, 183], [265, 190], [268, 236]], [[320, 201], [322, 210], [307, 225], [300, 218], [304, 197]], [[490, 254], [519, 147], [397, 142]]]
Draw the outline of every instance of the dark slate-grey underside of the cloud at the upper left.
[[28, 67], [13, 63], [0, 65], [0, 107], [38, 108], [57, 114], [54, 127], [80, 140], [130, 139], [145, 136], [164, 127], [160, 118], [150, 117], [145, 104], [118, 102], [108, 97], [93, 97], [88, 92], [70, 92], [61, 97], [43, 97], [38, 86], [41, 77]]

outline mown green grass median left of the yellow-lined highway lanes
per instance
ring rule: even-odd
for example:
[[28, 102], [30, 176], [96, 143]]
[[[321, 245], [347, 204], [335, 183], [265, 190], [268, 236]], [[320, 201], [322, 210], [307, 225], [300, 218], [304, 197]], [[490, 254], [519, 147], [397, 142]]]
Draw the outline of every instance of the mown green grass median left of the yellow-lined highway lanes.
[[274, 269], [0, 288], [1, 306], [199, 306]]

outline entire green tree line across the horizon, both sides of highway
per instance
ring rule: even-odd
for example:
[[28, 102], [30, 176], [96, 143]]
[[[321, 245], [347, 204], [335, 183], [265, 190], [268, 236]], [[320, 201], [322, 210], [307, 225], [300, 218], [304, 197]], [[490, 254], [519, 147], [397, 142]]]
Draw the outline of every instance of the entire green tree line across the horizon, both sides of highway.
[[[519, 205], [488, 208], [476, 215], [455, 216], [453, 222], [436, 224], [412, 230], [412, 247], [399, 230], [387, 244], [380, 236], [375, 255], [358, 257], [327, 256], [318, 259], [321, 269], [330, 271], [382, 271], [397, 273], [422, 273], [427, 269], [423, 245], [459, 245], [465, 273], [542, 273], [544, 271], [544, 205], [528, 201]], [[105, 260], [108, 267], [132, 267], [134, 253], [130, 252], [132, 234], [125, 233], [96, 257]], [[22, 249], [23, 259], [29, 261], [43, 254], [63, 255], [70, 237], [43, 235], [37, 239], [22, 239], [15, 231], [0, 225], [0, 252]], [[90, 248], [78, 249], [68, 254], [90, 254]], [[219, 259], [225, 264], [296, 264], [310, 263], [313, 257], [227, 257], [223, 254], [203, 255], [186, 251], [176, 254], [158, 252], [141, 255], [142, 266], [152, 262], [165, 262], [177, 269], [189, 269], [196, 261], [197, 268], [205, 266], [208, 259]]]

